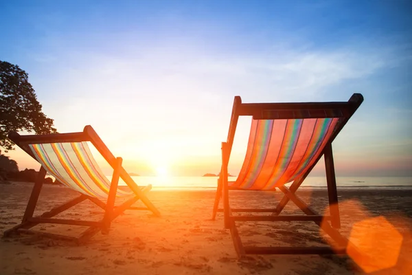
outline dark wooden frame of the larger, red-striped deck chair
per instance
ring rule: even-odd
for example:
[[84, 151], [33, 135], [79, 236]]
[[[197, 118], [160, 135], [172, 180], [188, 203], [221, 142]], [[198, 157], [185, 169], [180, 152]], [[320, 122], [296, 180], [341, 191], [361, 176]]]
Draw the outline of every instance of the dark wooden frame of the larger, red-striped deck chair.
[[[343, 126], [352, 117], [354, 112], [363, 102], [361, 94], [353, 94], [347, 102], [302, 102], [302, 103], [242, 103], [240, 96], [236, 96], [233, 102], [231, 120], [227, 142], [222, 142], [222, 168], [218, 179], [218, 187], [214, 201], [212, 219], [216, 219], [217, 212], [223, 212], [225, 228], [231, 232], [233, 245], [239, 257], [245, 254], [345, 254], [348, 240], [342, 236], [338, 230], [341, 227], [339, 216], [338, 195], [336, 189], [336, 178], [334, 173], [334, 161], [332, 153], [332, 142], [339, 134]], [[339, 110], [336, 112], [336, 110]], [[229, 206], [229, 190], [227, 166], [236, 126], [240, 115], [251, 115], [254, 120], [273, 119], [301, 119], [301, 118], [341, 118], [338, 128], [330, 136], [323, 151], [315, 162], [306, 170], [306, 173], [295, 179], [288, 188], [279, 186], [284, 193], [284, 197], [279, 201], [275, 209], [232, 209]], [[330, 216], [323, 216], [314, 211], [304, 201], [295, 195], [296, 190], [301, 186], [310, 171], [324, 156], [326, 180], [328, 186], [328, 197], [330, 206]], [[220, 197], [223, 200], [223, 209], [218, 208]], [[280, 215], [288, 201], [293, 201], [306, 215]], [[272, 215], [233, 215], [234, 212], [271, 212]], [[238, 221], [314, 221], [325, 231], [335, 242], [336, 246], [331, 247], [255, 247], [244, 246], [240, 239], [236, 222]], [[330, 221], [330, 223], [329, 223]], [[352, 247], [353, 248], [353, 247]]]

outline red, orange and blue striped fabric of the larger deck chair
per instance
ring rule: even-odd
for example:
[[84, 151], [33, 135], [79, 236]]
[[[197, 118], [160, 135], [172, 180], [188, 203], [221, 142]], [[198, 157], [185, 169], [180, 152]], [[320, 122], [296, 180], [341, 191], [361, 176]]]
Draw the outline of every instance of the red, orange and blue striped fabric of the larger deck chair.
[[247, 153], [231, 187], [271, 190], [303, 175], [323, 151], [339, 118], [253, 120]]

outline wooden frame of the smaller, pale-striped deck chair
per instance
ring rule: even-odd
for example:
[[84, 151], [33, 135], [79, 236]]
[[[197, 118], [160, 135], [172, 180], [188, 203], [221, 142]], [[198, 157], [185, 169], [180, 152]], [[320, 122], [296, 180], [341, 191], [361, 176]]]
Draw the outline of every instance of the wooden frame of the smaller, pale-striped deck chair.
[[[9, 133], [8, 137], [12, 140], [17, 146], [23, 149], [27, 154], [34, 157], [32, 151], [28, 144], [44, 144], [44, 143], [54, 143], [54, 142], [91, 142], [95, 148], [99, 151], [99, 153], [106, 159], [106, 162], [110, 164], [113, 168], [113, 177], [111, 179], [111, 186], [108, 192], [108, 197], [106, 203], [101, 201], [96, 197], [91, 197], [88, 195], [80, 195], [75, 199], [71, 199], [66, 203], [63, 203], [60, 206], [49, 210], [41, 214], [38, 217], [33, 217], [34, 209], [36, 208], [38, 197], [41, 192], [41, 188], [43, 187], [43, 181], [46, 176], [46, 170], [41, 166], [40, 170], [38, 171], [38, 177], [34, 183], [32, 194], [30, 195], [30, 199], [27, 203], [25, 213], [23, 215], [23, 219], [19, 225], [6, 230], [3, 236], [10, 236], [13, 233], [26, 233], [26, 234], [38, 234], [47, 236], [54, 239], [65, 239], [69, 241], [75, 241], [76, 243], [84, 243], [85, 241], [89, 240], [94, 234], [98, 233], [100, 230], [102, 234], [108, 234], [110, 230], [111, 221], [115, 219], [119, 214], [122, 214], [124, 210], [150, 210], [155, 214], [157, 217], [160, 217], [160, 212], [157, 208], [151, 203], [151, 201], [146, 197], [146, 193], [150, 191], [152, 186], [146, 186], [144, 188], [140, 188], [137, 186], [135, 181], [128, 175], [126, 170], [122, 167], [122, 158], [115, 157], [111, 151], [107, 148], [106, 144], [100, 139], [99, 135], [94, 131], [94, 129], [87, 125], [84, 127], [83, 132], [79, 133], [56, 133], [56, 134], [49, 134], [49, 135], [19, 135], [19, 133], [11, 132]], [[131, 197], [124, 201], [124, 203], [120, 204], [119, 206], [115, 206], [115, 197], [118, 188], [119, 178], [122, 178], [128, 187], [133, 190], [135, 196]], [[73, 220], [73, 219], [53, 219], [52, 217], [60, 214], [61, 212], [76, 206], [78, 203], [89, 199], [97, 206], [104, 210], [104, 217], [100, 221], [80, 221], [80, 220]], [[137, 200], [141, 200], [146, 207], [133, 207], [133, 204]], [[62, 234], [53, 234], [48, 232], [36, 231], [31, 230], [35, 225], [39, 223], [58, 223], [58, 224], [67, 224], [67, 225], [82, 225], [87, 226], [87, 230], [84, 230], [78, 237], [74, 236], [65, 236]]]

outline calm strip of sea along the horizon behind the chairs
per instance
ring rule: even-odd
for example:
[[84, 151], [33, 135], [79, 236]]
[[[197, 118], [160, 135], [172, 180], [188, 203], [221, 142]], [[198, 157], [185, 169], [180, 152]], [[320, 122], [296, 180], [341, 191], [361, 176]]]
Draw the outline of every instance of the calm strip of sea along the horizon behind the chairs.
[[[111, 180], [111, 177], [108, 176]], [[139, 186], [152, 184], [153, 189], [213, 190], [218, 177], [132, 177]], [[235, 181], [236, 177], [229, 177]], [[290, 183], [291, 184], [291, 183]], [[290, 184], [286, 184], [289, 186]], [[126, 185], [120, 180], [119, 185]], [[339, 188], [410, 189], [412, 177], [336, 177]], [[325, 177], [307, 177], [301, 188], [326, 188]]]

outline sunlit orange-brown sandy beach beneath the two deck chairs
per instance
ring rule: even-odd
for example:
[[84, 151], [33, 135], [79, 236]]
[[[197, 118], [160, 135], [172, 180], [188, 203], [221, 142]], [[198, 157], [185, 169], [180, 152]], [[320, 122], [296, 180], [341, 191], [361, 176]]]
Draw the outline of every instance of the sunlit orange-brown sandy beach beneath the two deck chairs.
[[[30, 183], [0, 184], [1, 235], [20, 223], [31, 189]], [[315, 210], [325, 211], [328, 203], [326, 190], [306, 188], [298, 195], [312, 203]], [[76, 192], [65, 187], [44, 186], [35, 214], [76, 196]], [[2, 238], [0, 274], [365, 273], [349, 256], [257, 255], [238, 260], [229, 230], [223, 228], [222, 215], [219, 214], [216, 221], [210, 220], [214, 191], [152, 190], [148, 197], [159, 208], [162, 217], [154, 217], [146, 211], [126, 210], [113, 221], [108, 235], [98, 233], [85, 245], [29, 235]], [[271, 208], [281, 198], [280, 192], [233, 191], [231, 206]], [[397, 257], [394, 266], [385, 270], [375, 269], [372, 274], [408, 274], [412, 271], [408, 262], [412, 255], [412, 190], [341, 189], [339, 200], [340, 232], [347, 237], [352, 236], [360, 249], [371, 251], [367, 248], [370, 243], [360, 241], [362, 234], [374, 234], [376, 229], [373, 223], [361, 223], [367, 219], [379, 217], [380, 221], [387, 221], [387, 228], [396, 228], [402, 236], [399, 242], [396, 238], [400, 235], [390, 234], [390, 230], [382, 231], [389, 232], [385, 236], [374, 235], [374, 241], [380, 247], [373, 250], [393, 248]], [[285, 208], [285, 213], [299, 212], [293, 203], [288, 203]], [[98, 220], [102, 217], [102, 210], [86, 201], [58, 217]], [[310, 222], [239, 225], [242, 241], [247, 245], [321, 245], [325, 242], [319, 234], [319, 227]], [[357, 228], [357, 232], [352, 228]], [[37, 225], [36, 229], [68, 235], [84, 230], [73, 225]]]

